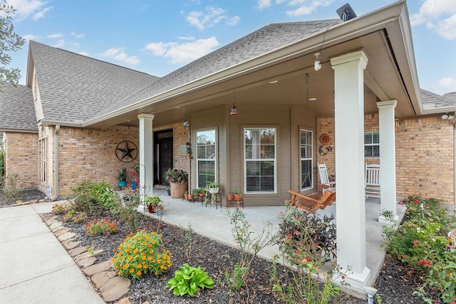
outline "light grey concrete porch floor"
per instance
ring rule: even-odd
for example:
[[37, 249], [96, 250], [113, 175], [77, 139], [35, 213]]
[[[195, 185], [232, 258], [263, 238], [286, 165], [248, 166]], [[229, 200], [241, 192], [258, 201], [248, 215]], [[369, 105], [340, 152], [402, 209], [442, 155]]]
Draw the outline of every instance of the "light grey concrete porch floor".
[[[209, 239], [214, 239], [228, 246], [236, 247], [232, 236], [232, 225], [230, 218], [227, 216], [227, 208], [218, 206], [202, 206], [201, 203], [190, 203], [182, 199], [172, 199], [167, 195], [166, 190], [155, 190], [153, 195], [160, 195], [164, 201], [165, 210], [162, 215], [162, 221], [167, 224], [181, 226], [182, 228], [191, 227], [197, 234], [207, 236]], [[145, 214], [150, 217], [157, 217], [155, 214], [150, 214], [147, 208], [142, 205], [140, 211], [145, 210]], [[234, 207], [229, 207], [229, 210], [234, 210]], [[252, 231], [259, 232], [264, 230], [264, 223], [269, 221], [273, 224], [274, 232], [279, 226], [278, 216], [280, 212], [286, 211], [286, 206], [246, 206], [244, 214], [247, 221], [252, 224]], [[397, 205], [399, 221], [405, 214], [405, 206]], [[319, 210], [317, 214], [336, 215], [336, 204], [327, 207], [324, 210]], [[380, 214], [380, 199], [368, 198], [366, 200], [366, 255], [367, 267], [371, 269], [371, 280], [368, 285], [373, 285], [378, 277], [380, 268], [383, 265], [385, 251], [381, 248], [383, 244], [382, 226], [383, 223], [378, 222]], [[337, 216], [336, 216], [337, 219]], [[270, 246], [259, 252], [259, 256], [266, 259], [271, 259], [273, 254], [279, 253], [279, 246]], [[354, 290], [359, 293], [361, 290]]]

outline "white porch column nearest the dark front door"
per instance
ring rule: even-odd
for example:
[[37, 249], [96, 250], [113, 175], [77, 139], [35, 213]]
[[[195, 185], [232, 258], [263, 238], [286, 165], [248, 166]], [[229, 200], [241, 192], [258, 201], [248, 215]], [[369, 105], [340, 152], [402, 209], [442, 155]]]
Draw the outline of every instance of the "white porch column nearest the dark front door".
[[146, 196], [152, 196], [154, 185], [153, 167], [153, 131], [152, 120], [154, 115], [140, 114], [140, 196], [141, 202]]

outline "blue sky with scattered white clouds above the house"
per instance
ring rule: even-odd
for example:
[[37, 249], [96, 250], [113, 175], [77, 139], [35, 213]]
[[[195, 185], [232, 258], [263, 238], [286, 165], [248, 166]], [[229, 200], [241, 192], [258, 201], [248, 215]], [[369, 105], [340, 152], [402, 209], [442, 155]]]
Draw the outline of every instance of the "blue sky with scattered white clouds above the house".
[[[8, 0], [26, 46], [12, 53], [25, 83], [28, 41], [163, 76], [269, 23], [358, 16], [390, 0]], [[420, 87], [456, 91], [456, 0], [409, 0]]]

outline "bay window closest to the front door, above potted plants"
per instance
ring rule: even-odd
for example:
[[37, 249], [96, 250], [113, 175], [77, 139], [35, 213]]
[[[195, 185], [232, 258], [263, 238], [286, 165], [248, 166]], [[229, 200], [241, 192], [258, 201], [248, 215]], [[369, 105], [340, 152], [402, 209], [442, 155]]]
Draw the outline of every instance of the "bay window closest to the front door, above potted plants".
[[197, 132], [197, 185], [206, 187], [207, 182], [216, 182], [217, 149], [215, 130]]

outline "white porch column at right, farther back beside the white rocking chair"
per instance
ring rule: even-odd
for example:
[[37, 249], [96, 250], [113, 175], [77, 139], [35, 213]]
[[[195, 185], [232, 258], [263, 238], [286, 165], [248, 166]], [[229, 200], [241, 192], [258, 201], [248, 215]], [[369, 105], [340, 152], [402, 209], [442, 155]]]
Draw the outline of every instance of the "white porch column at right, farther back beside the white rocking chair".
[[[396, 160], [394, 109], [396, 100], [380, 101], [378, 107], [378, 127], [380, 130], [380, 210], [392, 211], [395, 220], [396, 212]], [[385, 217], [378, 221], [385, 223]]]

